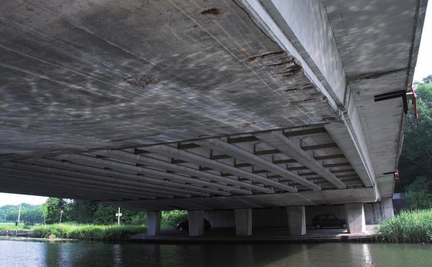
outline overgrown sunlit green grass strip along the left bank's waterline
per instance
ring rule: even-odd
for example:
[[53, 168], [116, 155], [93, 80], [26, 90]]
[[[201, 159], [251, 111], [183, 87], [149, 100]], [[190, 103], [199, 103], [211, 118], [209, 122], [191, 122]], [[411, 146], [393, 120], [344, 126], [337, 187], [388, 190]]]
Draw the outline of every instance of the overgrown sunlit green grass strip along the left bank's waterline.
[[136, 225], [50, 224], [35, 228], [33, 237], [117, 241], [146, 231], [147, 227]]

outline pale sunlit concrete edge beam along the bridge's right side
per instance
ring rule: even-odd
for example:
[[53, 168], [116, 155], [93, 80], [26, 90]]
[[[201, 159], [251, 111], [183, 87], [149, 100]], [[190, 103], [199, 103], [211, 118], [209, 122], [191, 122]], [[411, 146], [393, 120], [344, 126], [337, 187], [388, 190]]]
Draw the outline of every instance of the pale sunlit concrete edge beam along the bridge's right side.
[[[358, 161], [357, 158], [360, 158], [363, 163], [363, 166], [358, 166], [357, 169], [362, 169], [361, 172], [367, 173], [359, 175], [366, 187], [374, 187], [375, 200], [379, 200], [381, 196], [376, 186], [375, 172], [361, 124], [359, 127], [360, 120], [357, 108], [353, 104], [354, 101], [350, 100], [352, 98], [350, 87], [347, 84], [345, 70], [322, 3], [320, 5], [307, 5], [295, 1], [287, 3], [258, 0], [243, 0], [242, 2], [276, 42], [301, 62], [309, 79], [328, 99], [328, 104], [343, 122], [329, 125], [343, 125], [343, 135], [350, 137], [357, 150], [356, 161]], [[308, 2], [311, 1], [308, 0]], [[310, 16], [310, 14], [316, 16]], [[304, 16], [311, 18], [308, 25], [299, 23], [303, 22], [299, 18]], [[316, 36], [321, 37], [321, 45], [326, 49], [323, 50], [322, 46], [310, 42], [310, 40], [315, 40]], [[317, 51], [320, 53], [316, 53]], [[327, 66], [329, 64], [330, 66]], [[341, 128], [340, 126], [336, 127]], [[326, 129], [328, 130], [328, 127]], [[333, 140], [336, 140], [331, 130], [328, 132]], [[344, 154], [347, 150], [352, 150], [351, 145], [345, 149], [343, 149], [343, 144], [337, 145]], [[356, 171], [359, 172], [360, 170], [357, 169]]]

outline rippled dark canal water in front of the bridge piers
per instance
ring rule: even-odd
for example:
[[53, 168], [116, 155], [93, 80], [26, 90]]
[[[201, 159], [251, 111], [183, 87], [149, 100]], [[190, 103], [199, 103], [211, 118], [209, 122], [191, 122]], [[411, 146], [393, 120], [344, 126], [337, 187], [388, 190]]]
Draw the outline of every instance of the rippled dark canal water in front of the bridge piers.
[[0, 240], [0, 266], [432, 266], [432, 245], [185, 245]]

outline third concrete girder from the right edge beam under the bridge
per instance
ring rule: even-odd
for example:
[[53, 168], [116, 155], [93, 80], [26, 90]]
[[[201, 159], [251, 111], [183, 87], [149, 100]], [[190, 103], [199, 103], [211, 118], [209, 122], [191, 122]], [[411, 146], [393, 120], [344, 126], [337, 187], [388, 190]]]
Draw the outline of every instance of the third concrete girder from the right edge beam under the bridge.
[[[263, 183], [265, 185], [270, 185], [270, 186], [274, 186], [276, 188], [284, 189], [287, 191], [292, 191], [291, 186], [276, 182], [274, 180], [265, 178], [263, 176], [259, 176], [259, 175], [247, 172], [247, 171], [242, 170], [242, 169], [235, 168], [233, 166], [229, 166], [229, 165], [221, 163], [221, 162], [210, 160], [210, 159], [204, 158], [202, 156], [199, 156], [199, 155], [196, 155], [196, 154], [193, 154], [190, 152], [186, 152], [183, 150], [179, 150], [176, 148], [172, 148], [172, 147], [169, 147], [166, 145], [145, 147], [145, 150], [155, 152], [155, 153], [160, 153], [163, 155], [176, 155], [176, 157], [183, 158], [183, 159], [189, 159], [189, 160], [192, 160], [193, 162], [198, 162], [198, 163], [200, 163], [206, 167], [210, 167], [210, 168], [214, 168], [216, 170], [220, 170], [220, 171], [228, 172], [228, 173], [231, 173], [234, 175], [238, 175], [238, 176], [247, 178], [247, 179], [255, 181], [255, 182]], [[263, 187], [262, 191], [264, 192], [265, 189], [266, 188]], [[273, 193], [273, 190], [270, 190], [271, 192], [269, 192], [269, 190], [267, 190], [266, 193]]]

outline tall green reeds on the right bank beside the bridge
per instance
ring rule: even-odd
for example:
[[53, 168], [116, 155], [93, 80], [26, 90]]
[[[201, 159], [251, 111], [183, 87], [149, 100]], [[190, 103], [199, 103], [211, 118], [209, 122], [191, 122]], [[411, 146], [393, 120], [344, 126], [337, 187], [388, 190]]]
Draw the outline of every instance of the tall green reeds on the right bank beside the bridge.
[[432, 209], [407, 210], [379, 227], [386, 242], [432, 243]]

